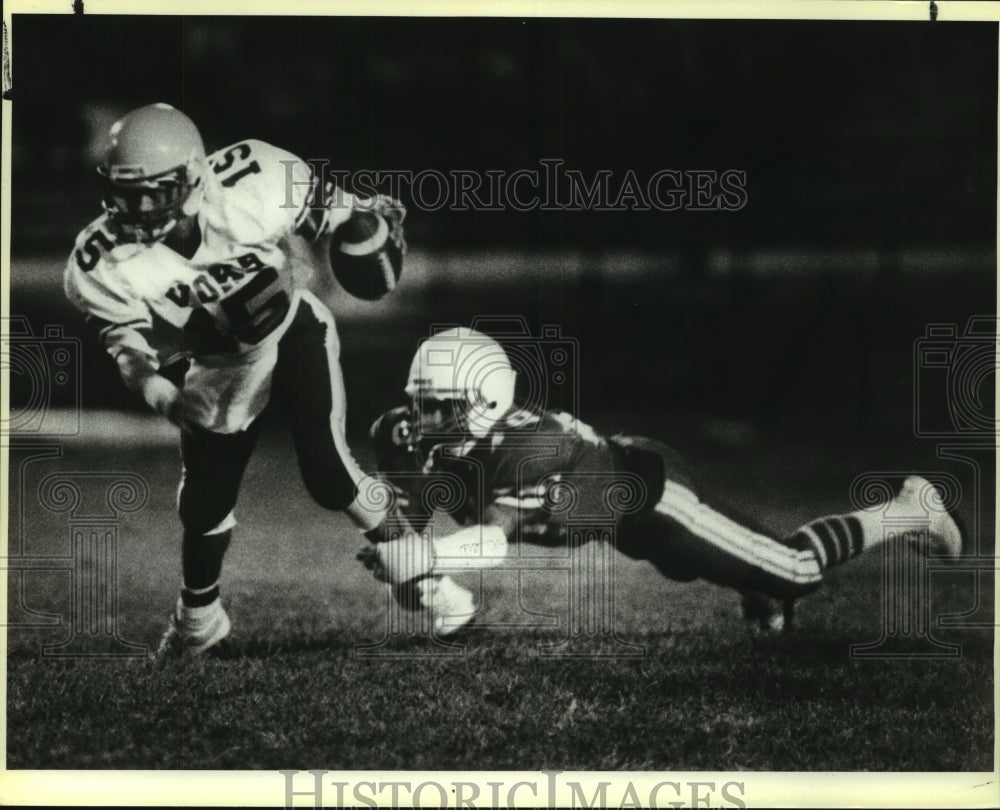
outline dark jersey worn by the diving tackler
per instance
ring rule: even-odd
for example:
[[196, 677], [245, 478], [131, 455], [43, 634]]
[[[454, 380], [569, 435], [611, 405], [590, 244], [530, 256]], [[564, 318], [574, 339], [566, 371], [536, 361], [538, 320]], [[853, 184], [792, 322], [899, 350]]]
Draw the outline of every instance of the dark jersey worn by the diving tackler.
[[450, 443], [417, 441], [397, 408], [372, 438], [380, 471], [413, 496], [414, 518], [444, 511], [546, 545], [641, 518], [671, 474], [660, 443], [607, 439], [562, 411], [515, 409], [487, 436]]

